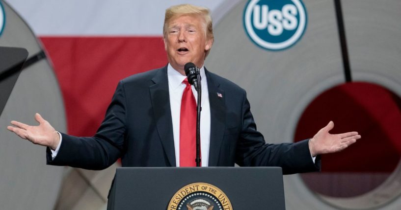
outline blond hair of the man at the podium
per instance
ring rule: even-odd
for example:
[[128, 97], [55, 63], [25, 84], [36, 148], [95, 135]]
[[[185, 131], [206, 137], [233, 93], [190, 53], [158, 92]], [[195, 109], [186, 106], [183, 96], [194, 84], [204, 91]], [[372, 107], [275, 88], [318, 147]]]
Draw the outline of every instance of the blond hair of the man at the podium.
[[[171, 6], [166, 9], [166, 13], [164, 15], [164, 24], [163, 24], [163, 37], [167, 37], [167, 29], [168, 23], [173, 17], [183, 16], [183, 15], [200, 15], [205, 23], [205, 35], [206, 40], [214, 41], [213, 36], [213, 24], [212, 17], [210, 16], [210, 10], [206, 7], [194, 6], [191, 4], [180, 4]], [[209, 54], [209, 51], [206, 51], [206, 56]]]

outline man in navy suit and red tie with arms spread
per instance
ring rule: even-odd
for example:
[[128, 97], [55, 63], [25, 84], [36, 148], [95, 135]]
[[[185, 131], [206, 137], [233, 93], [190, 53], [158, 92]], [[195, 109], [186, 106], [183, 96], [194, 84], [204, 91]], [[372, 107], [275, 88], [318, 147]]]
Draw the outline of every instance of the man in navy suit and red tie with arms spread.
[[202, 77], [202, 166], [238, 163], [280, 166], [284, 174], [315, 171], [320, 169], [316, 156], [341, 151], [360, 138], [357, 132], [329, 134], [334, 127], [329, 122], [310, 140], [266, 144], [245, 91], [203, 65], [214, 42], [209, 10], [188, 4], [168, 8], [163, 37], [167, 66], [121, 80], [95, 136], [60, 134], [39, 114], [39, 126], [12, 121], [14, 126], [7, 128], [47, 146], [48, 164], [104, 169], [121, 158], [122, 166], [194, 166], [195, 132], [187, 130], [196, 124], [197, 93], [184, 81], [184, 66], [192, 62]]

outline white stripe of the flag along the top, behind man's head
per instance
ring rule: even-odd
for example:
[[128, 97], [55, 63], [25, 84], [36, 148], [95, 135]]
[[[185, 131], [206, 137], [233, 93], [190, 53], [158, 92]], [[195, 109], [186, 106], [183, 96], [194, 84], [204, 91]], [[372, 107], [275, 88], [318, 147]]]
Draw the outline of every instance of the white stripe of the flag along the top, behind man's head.
[[161, 36], [164, 11], [192, 3], [213, 11], [223, 0], [7, 0], [38, 36]]

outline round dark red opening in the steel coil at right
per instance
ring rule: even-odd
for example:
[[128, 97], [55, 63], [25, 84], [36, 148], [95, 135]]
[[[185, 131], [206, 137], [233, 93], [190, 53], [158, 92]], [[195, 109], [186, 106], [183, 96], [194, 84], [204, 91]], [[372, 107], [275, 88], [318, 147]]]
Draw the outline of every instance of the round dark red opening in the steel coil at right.
[[322, 155], [320, 173], [301, 174], [305, 185], [328, 203], [352, 209], [371, 207], [364, 203], [349, 204], [352, 198], [373, 196], [370, 200], [376, 200], [378, 205], [399, 195], [401, 188], [393, 190], [387, 200], [374, 197], [380, 192], [388, 193], [387, 187], [397, 181], [394, 177], [400, 177], [400, 97], [367, 82], [333, 87], [306, 107], [294, 139], [312, 137], [330, 120], [335, 125], [330, 133], [357, 131], [362, 139], [340, 153]]

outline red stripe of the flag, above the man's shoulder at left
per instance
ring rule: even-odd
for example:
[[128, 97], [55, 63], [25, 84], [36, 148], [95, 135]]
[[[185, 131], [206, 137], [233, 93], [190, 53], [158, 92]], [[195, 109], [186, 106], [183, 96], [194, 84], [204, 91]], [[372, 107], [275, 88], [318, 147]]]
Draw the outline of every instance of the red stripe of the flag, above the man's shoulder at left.
[[61, 87], [67, 131], [92, 136], [119, 80], [167, 64], [162, 37], [40, 37]]

